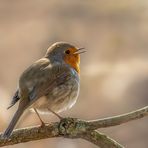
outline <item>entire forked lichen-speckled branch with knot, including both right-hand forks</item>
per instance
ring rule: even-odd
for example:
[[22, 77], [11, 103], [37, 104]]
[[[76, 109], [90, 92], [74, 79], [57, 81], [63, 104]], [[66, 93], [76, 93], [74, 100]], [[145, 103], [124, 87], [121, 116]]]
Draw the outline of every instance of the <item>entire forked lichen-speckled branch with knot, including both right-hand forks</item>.
[[14, 130], [9, 139], [3, 139], [2, 134], [0, 134], [0, 147], [45, 138], [66, 137], [82, 138], [96, 144], [101, 148], [122, 148], [123, 146], [118, 144], [116, 141], [94, 130], [102, 127], [120, 125], [125, 122], [140, 119], [147, 115], [148, 106], [127, 114], [94, 121], [83, 121], [76, 118], [64, 118], [60, 122], [55, 122], [44, 127], [35, 126]]

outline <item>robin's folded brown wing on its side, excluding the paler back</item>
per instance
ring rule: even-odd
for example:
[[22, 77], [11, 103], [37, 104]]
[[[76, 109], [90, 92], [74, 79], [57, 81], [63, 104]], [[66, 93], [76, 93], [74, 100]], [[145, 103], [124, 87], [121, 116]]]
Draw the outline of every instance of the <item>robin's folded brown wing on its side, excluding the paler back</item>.
[[66, 66], [56, 65], [50, 68], [44, 80], [38, 79], [38, 82], [30, 92], [30, 100], [36, 100], [42, 96], [46, 96], [54, 87], [63, 84], [70, 77], [71, 71]]

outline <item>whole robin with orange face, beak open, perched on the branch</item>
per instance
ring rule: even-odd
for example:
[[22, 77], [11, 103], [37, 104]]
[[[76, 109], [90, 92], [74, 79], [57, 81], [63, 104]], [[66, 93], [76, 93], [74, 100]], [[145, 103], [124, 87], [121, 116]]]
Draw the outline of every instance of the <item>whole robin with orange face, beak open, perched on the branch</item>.
[[16, 123], [26, 109], [40, 113], [58, 113], [70, 109], [76, 102], [80, 89], [80, 54], [84, 48], [57, 42], [50, 46], [45, 56], [20, 76], [19, 87], [10, 106], [19, 101], [19, 106], [3, 138], [9, 138]]

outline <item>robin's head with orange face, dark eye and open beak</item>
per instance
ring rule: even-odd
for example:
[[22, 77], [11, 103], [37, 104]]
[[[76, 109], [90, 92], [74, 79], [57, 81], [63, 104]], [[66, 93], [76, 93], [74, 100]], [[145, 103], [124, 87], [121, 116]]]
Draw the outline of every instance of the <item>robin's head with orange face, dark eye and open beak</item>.
[[76, 48], [69, 43], [57, 42], [48, 48], [45, 57], [49, 58], [51, 62], [69, 64], [79, 73], [80, 54], [85, 52], [83, 49]]

